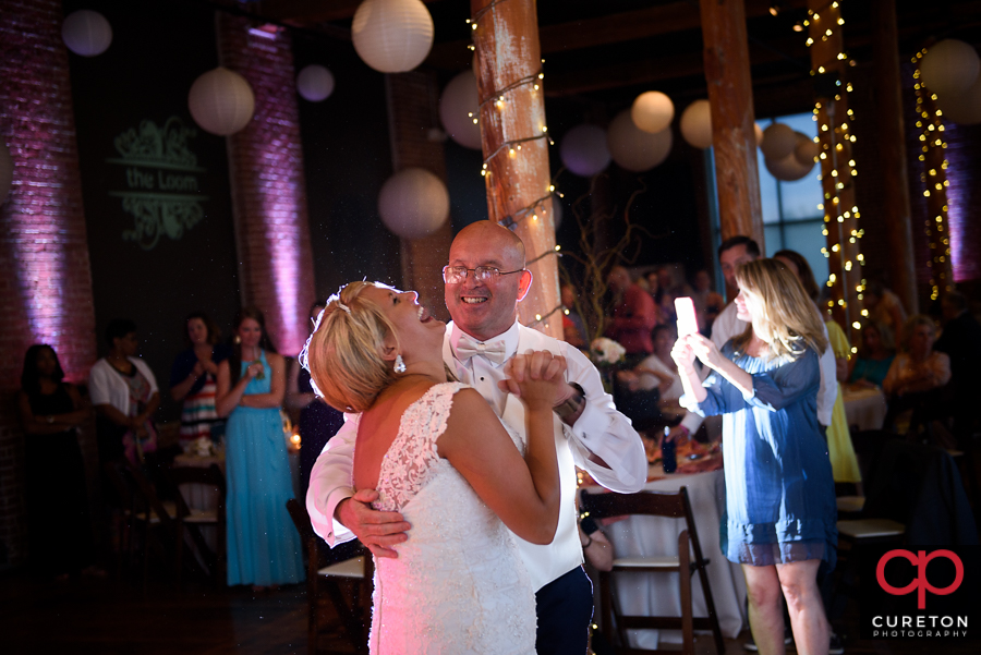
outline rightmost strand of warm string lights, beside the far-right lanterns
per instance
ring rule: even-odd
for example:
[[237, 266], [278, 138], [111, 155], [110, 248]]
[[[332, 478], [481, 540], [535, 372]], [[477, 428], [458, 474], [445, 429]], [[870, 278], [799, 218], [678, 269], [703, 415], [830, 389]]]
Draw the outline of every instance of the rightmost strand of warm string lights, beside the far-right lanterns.
[[920, 63], [924, 54], [925, 48], [912, 58], [912, 63], [916, 64], [913, 90], [917, 94], [917, 116], [922, 119], [917, 121], [917, 128], [921, 130], [920, 141], [924, 144], [919, 156], [919, 160], [923, 162], [920, 181], [925, 185], [923, 196], [927, 198], [928, 216], [933, 217], [933, 220], [925, 221], [923, 231], [927, 233], [930, 247], [930, 259], [927, 260], [927, 267], [930, 269], [930, 299], [935, 301], [953, 289], [954, 275], [950, 264], [950, 240], [946, 238], [946, 234], [949, 234], [947, 222], [949, 182], [946, 174], [948, 161], [944, 154], [947, 144], [943, 138], [934, 138], [931, 134], [942, 133], [945, 128], [943, 112], [936, 106], [936, 94], [927, 88], [920, 75]]

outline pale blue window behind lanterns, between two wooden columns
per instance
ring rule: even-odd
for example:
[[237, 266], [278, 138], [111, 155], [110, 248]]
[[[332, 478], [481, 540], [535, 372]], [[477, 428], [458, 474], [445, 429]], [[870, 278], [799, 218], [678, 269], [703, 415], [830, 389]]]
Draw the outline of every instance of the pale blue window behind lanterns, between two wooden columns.
[[[773, 122], [784, 123], [809, 138], [818, 135], [818, 123], [810, 113], [798, 113], [760, 121], [764, 130]], [[814, 278], [821, 286], [827, 280], [827, 259], [821, 253], [826, 240], [824, 211], [818, 206], [823, 202], [823, 191], [816, 163], [804, 178], [796, 182], [780, 182], [770, 174], [763, 161], [763, 151], [756, 150], [760, 166], [760, 199], [763, 206], [763, 229], [766, 238], [766, 255], [782, 250], [797, 251], [808, 260]]]

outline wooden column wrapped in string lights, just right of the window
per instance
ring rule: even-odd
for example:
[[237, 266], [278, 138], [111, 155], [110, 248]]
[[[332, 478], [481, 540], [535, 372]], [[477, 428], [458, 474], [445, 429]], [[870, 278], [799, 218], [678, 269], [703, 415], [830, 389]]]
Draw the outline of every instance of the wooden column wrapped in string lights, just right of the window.
[[851, 144], [855, 135], [848, 108], [848, 58], [844, 53], [841, 12], [838, 2], [808, 0], [808, 46], [811, 49], [811, 73], [818, 112], [818, 136], [821, 146], [821, 182], [824, 187], [824, 227], [827, 238], [828, 310], [851, 342], [859, 340], [859, 323], [863, 316], [862, 232], [855, 201], [855, 159]]

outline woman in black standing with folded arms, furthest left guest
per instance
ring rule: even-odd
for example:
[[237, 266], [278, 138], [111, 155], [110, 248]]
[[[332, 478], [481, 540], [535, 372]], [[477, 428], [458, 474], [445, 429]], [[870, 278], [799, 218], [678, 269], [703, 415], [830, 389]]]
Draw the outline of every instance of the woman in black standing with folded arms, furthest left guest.
[[63, 378], [53, 348], [27, 349], [17, 404], [27, 446], [28, 553], [36, 574], [59, 580], [70, 573], [101, 573], [92, 566], [85, 462], [77, 434], [92, 410]]

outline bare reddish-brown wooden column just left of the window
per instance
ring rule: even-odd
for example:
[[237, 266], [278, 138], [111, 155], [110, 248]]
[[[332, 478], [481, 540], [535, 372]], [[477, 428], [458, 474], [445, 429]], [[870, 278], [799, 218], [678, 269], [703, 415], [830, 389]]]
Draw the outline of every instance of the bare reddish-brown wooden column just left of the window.
[[746, 7], [743, 0], [702, 0], [701, 10], [722, 238], [752, 236], [762, 250], [763, 213]]

